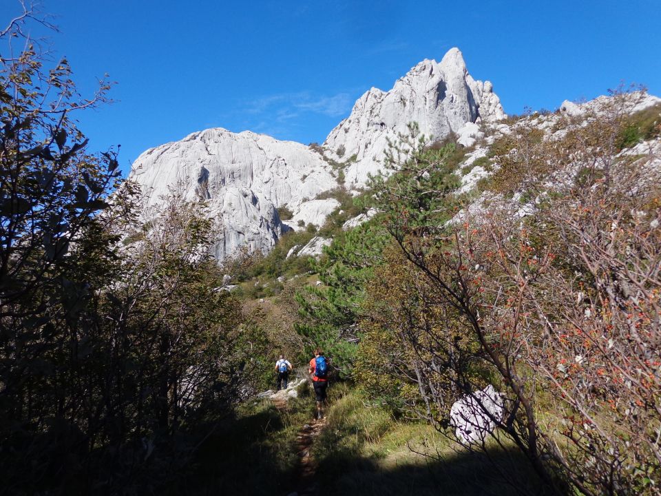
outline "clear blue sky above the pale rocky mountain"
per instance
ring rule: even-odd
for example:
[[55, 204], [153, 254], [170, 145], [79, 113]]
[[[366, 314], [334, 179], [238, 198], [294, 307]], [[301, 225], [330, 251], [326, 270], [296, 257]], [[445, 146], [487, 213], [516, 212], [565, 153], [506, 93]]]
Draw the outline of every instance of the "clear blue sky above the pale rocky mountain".
[[[389, 90], [453, 46], [505, 112], [555, 109], [620, 81], [661, 95], [660, 0], [42, 0], [83, 94], [105, 72], [115, 103], [80, 115], [120, 163], [207, 127], [322, 142], [372, 86]], [[0, 0], [2, 19], [17, 10]], [[2, 24], [6, 22], [3, 20]]]

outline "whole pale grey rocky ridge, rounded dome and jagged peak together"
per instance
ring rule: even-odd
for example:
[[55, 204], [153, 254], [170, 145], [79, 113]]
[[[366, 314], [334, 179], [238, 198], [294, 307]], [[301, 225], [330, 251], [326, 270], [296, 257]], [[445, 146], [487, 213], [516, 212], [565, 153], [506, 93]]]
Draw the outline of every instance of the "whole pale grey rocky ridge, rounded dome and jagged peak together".
[[[443, 138], [467, 123], [504, 116], [492, 84], [472, 79], [461, 52], [452, 48], [440, 63], [417, 64], [392, 90], [366, 92], [323, 147], [214, 128], [148, 149], [129, 177], [143, 187], [147, 206], [173, 189], [189, 200], [206, 200], [209, 215], [222, 219], [218, 260], [242, 247], [266, 253], [290, 229], [323, 225], [338, 203], [315, 198], [342, 183], [340, 170], [348, 189], [364, 187], [368, 174], [381, 166], [388, 139], [411, 121], [421, 132]], [[279, 207], [293, 217], [283, 221]]]

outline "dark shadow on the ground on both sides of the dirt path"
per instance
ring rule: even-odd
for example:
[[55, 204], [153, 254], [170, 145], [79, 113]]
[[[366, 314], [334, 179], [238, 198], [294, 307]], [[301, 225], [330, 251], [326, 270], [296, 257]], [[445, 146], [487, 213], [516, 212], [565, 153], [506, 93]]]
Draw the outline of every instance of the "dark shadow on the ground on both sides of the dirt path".
[[[309, 403], [307, 403], [309, 404]], [[285, 413], [264, 407], [217, 426], [191, 460], [191, 469], [164, 493], [176, 495], [282, 495], [299, 487], [300, 457], [295, 432], [311, 410]], [[317, 457], [315, 494], [319, 496], [544, 495], [543, 486], [514, 451], [450, 453], [398, 462], [357, 451], [326, 449]], [[514, 488], [518, 487], [518, 490]]]

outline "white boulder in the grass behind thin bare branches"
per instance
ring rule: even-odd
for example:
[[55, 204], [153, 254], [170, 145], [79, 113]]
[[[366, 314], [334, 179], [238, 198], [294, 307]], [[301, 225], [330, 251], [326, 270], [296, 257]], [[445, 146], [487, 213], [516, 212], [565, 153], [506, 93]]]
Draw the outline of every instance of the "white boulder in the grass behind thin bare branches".
[[497, 421], [503, 420], [503, 397], [489, 384], [482, 391], [465, 395], [450, 409], [450, 425], [463, 444], [484, 442], [494, 431]]

